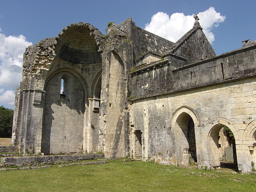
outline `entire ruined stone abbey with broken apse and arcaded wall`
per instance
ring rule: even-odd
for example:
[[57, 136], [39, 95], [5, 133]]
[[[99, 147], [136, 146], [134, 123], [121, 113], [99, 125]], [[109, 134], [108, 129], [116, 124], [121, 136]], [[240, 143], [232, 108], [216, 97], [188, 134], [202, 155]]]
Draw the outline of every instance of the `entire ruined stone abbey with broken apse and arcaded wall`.
[[216, 55], [195, 19], [176, 43], [129, 18], [109, 23], [107, 35], [72, 23], [29, 46], [12, 144], [20, 153], [100, 151], [200, 169], [226, 158], [253, 171], [256, 41]]

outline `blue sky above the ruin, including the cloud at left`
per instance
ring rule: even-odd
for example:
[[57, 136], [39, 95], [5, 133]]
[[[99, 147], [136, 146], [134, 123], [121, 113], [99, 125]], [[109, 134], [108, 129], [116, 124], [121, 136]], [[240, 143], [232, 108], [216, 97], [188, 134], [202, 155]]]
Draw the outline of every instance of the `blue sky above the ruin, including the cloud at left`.
[[[194, 13], [205, 12], [210, 7], [214, 8], [216, 13], [220, 13], [219, 19], [221, 19], [221, 21], [219, 20], [219, 22], [209, 26], [209, 31], [214, 35], [212, 47], [216, 54], [241, 48], [241, 41], [243, 40], [256, 40], [256, 1], [1, 0], [0, 105], [13, 108], [14, 92], [19, 87], [18, 82], [21, 81], [21, 75], [19, 74], [21, 74], [21, 53], [25, 51], [24, 47], [31, 43], [35, 44], [44, 38], [58, 35], [62, 28], [70, 23], [79, 21], [91, 23], [102, 33], [105, 33], [109, 21], [119, 24], [123, 20], [132, 17], [138, 27], [145, 28], [146, 24], [151, 22], [153, 15], [158, 12], [163, 12], [158, 13], [158, 16], [168, 15], [170, 17], [173, 13], [183, 13], [183, 16], [181, 14], [178, 14], [178, 16], [182, 16], [182, 18], [189, 16], [191, 18]], [[159, 18], [160, 20], [155, 20], [155, 23], [163, 21], [161, 21], [162, 17]], [[199, 20], [201, 26], [201, 22], [207, 23], [213, 17], [209, 16], [208, 18]], [[170, 21], [166, 22], [169, 22], [169, 24], [164, 27], [168, 29], [172, 23]], [[218, 26], [214, 27], [216, 25]], [[151, 28], [154, 28], [153, 24]], [[3, 46], [4, 44], [7, 45]], [[12, 63], [8, 64], [8, 62]], [[5, 76], [3, 76], [4, 73]]]

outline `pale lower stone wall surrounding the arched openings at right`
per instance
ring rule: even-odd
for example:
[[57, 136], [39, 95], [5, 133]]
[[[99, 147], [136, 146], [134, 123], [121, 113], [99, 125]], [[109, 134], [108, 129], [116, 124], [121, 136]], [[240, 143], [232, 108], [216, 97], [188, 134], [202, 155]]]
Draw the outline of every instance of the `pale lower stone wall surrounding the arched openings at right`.
[[[160, 163], [175, 164], [176, 152], [173, 147], [175, 129], [171, 126], [175, 122], [171, 119], [175, 110], [188, 106], [194, 111], [199, 121], [198, 125], [195, 124], [198, 164], [204, 166], [207, 156], [213, 153], [211, 149], [205, 152], [209, 144], [209, 141], [204, 138], [204, 135], [209, 133], [207, 127], [218, 124], [218, 118], [224, 118], [227, 122], [233, 123], [229, 122], [227, 126], [235, 135], [238, 166], [242, 170], [245, 169], [247, 166], [245, 164], [250, 164], [254, 160], [248, 147], [242, 146], [241, 135], [248, 124], [256, 119], [255, 86], [256, 78], [254, 77], [133, 101], [130, 113], [131, 132], [139, 129], [142, 134], [148, 134], [144, 135], [142, 140], [148, 140], [148, 142], [150, 140], [150, 144], [145, 143], [142, 146], [142, 148], [145, 147], [143, 157], [156, 158]], [[232, 128], [234, 126], [239, 127], [239, 131]], [[244, 161], [243, 158], [247, 160]]]

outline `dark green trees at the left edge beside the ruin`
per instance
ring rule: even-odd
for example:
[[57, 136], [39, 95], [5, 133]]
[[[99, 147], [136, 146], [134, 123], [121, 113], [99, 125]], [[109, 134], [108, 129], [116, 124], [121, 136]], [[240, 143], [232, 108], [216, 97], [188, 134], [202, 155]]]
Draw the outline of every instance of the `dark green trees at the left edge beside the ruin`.
[[12, 137], [13, 110], [0, 106], [0, 137]]

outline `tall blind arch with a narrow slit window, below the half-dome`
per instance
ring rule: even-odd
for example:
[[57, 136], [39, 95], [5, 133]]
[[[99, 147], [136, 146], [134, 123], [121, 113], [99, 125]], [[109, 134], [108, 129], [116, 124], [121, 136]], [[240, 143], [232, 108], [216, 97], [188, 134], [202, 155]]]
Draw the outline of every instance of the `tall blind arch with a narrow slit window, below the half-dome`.
[[[61, 79], [65, 81], [60, 94]], [[83, 151], [85, 85], [71, 69], [57, 70], [45, 83], [41, 151], [44, 154]]]

